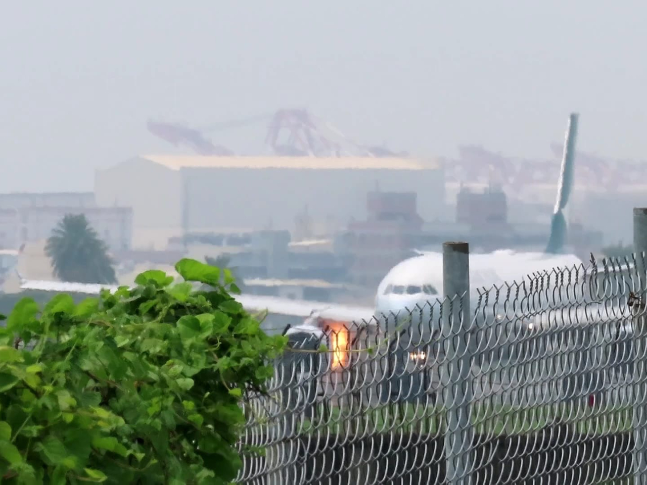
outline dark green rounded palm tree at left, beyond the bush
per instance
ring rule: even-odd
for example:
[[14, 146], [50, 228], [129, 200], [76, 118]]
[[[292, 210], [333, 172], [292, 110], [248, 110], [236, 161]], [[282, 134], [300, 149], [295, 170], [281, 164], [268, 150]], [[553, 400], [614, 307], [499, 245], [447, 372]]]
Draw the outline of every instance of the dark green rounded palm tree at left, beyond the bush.
[[54, 276], [78, 283], [117, 283], [113, 260], [83, 214], [66, 214], [45, 244]]

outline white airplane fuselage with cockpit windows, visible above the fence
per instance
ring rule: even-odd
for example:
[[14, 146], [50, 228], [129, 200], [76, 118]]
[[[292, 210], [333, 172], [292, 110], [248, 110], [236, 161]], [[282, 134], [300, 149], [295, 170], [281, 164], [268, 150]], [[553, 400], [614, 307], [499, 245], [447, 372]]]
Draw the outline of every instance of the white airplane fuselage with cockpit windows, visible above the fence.
[[[470, 295], [492, 285], [520, 283], [529, 275], [553, 268], [583, 267], [575, 255], [499, 250], [470, 255]], [[422, 253], [393, 266], [377, 288], [375, 316], [430, 319], [430, 308], [443, 299], [443, 255]], [[436, 305], [435, 308], [438, 306]], [[437, 309], [435, 310], [437, 312]], [[435, 319], [435, 318], [434, 318]]]

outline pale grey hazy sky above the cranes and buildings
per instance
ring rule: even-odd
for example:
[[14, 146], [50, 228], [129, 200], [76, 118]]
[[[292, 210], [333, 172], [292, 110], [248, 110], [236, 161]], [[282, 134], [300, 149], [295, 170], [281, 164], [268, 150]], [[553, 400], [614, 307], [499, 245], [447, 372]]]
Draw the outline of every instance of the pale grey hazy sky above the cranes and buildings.
[[[173, 147], [148, 118], [204, 127], [306, 107], [420, 155], [483, 144], [647, 158], [647, 4], [418, 0], [6, 2], [1, 191], [91, 190], [95, 167]], [[265, 127], [214, 133], [262, 147]]]

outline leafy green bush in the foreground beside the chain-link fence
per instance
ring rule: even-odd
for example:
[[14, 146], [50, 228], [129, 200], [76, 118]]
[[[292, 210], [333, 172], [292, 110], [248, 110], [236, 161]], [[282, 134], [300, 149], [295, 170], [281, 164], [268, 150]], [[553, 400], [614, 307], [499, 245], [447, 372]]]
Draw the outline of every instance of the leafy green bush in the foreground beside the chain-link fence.
[[[184, 282], [76, 305], [25, 298], [0, 329], [3, 483], [221, 484], [241, 466], [241, 401], [263, 392], [285, 346], [229, 292], [230, 272], [191, 259]], [[194, 290], [191, 282], [212, 285]]]

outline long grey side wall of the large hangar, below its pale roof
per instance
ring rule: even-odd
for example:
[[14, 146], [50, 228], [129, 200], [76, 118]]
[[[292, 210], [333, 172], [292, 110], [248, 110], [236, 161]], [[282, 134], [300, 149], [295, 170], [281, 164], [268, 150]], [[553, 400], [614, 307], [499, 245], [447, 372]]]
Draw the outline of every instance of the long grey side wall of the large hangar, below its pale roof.
[[418, 211], [432, 221], [444, 210], [440, 170], [387, 169], [197, 169], [184, 168], [188, 228], [294, 228], [307, 204], [317, 221], [333, 215], [340, 224], [366, 217], [366, 194], [415, 191]]

